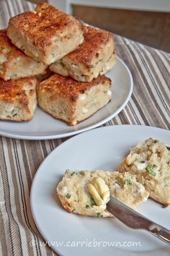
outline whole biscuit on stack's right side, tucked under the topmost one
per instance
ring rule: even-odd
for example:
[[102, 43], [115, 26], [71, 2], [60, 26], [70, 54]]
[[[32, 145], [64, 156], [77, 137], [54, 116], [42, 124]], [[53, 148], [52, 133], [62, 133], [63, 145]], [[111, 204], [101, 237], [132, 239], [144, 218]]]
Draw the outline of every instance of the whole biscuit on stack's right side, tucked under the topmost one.
[[84, 42], [75, 51], [50, 65], [50, 70], [80, 82], [90, 82], [115, 65], [113, 35], [84, 26]]

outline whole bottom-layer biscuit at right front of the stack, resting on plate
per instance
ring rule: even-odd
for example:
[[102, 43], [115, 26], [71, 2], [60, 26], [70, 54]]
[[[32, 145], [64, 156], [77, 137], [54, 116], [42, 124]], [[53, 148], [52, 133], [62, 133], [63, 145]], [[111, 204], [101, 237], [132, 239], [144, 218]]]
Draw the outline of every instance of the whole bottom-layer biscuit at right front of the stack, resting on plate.
[[55, 119], [76, 125], [110, 101], [110, 86], [111, 80], [104, 75], [91, 82], [78, 82], [54, 74], [37, 86], [38, 105]]

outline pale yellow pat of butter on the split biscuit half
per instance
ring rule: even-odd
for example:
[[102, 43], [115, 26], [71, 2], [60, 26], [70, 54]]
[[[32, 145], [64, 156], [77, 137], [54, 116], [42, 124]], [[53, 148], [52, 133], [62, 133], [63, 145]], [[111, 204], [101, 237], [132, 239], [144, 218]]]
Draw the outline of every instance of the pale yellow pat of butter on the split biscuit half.
[[93, 197], [96, 204], [106, 209], [106, 204], [109, 202], [109, 187], [107, 187], [104, 179], [100, 177], [92, 179], [92, 181], [86, 185], [86, 189], [91, 197]]

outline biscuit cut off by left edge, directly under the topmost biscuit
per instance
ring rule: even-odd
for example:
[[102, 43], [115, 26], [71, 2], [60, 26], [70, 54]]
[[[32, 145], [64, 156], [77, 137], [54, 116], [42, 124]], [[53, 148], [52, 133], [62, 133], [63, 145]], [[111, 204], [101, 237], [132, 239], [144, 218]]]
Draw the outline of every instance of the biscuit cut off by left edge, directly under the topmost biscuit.
[[4, 80], [45, 74], [46, 65], [31, 59], [12, 44], [0, 30], [0, 77]]

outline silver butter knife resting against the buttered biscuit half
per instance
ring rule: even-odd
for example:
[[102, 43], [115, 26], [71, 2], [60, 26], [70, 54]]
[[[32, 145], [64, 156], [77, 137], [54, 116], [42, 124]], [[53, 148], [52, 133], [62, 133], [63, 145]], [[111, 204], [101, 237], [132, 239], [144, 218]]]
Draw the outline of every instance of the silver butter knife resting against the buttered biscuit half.
[[146, 229], [158, 239], [170, 245], [170, 230], [149, 220], [135, 210], [129, 208], [115, 197], [110, 197], [107, 210], [122, 223], [132, 229]]

